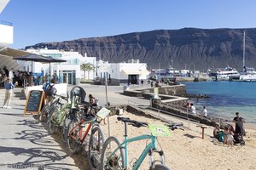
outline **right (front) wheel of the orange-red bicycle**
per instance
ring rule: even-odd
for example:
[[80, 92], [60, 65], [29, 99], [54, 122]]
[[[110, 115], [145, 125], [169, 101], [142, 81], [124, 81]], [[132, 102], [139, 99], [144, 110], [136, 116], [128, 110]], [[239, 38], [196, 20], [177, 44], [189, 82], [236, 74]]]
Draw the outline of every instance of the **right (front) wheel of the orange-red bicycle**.
[[97, 169], [101, 159], [104, 135], [101, 127], [93, 127], [90, 134], [88, 158], [90, 169]]

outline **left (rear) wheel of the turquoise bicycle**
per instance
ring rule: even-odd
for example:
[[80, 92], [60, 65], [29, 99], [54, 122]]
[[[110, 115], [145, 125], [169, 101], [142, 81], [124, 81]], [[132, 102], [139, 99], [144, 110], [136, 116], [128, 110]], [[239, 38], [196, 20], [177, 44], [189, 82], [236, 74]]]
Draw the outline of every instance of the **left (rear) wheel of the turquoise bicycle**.
[[[100, 169], [124, 169], [125, 168], [125, 153], [124, 148], [119, 147], [119, 139], [111, 136], [109, 137], [103, 144], [102, 148], [102, 156], [101, 156], [101, 164]], [[113, 153], [113, 150], [116, 148], [119, 149]], [[112, 156], [110, 156], [112, 155]]]

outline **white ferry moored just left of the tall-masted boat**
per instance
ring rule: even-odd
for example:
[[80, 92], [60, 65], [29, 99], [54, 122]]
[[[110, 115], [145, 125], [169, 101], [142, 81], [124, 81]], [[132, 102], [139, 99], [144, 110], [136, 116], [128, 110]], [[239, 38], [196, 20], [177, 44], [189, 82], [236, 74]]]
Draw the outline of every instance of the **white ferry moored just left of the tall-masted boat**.
[[218, 81], [228, 81], [230, 79], [239, 79], [240, 74], [236, 69], [226, 67], [224, 69], [218, 69], [216, 72], [216, 78]]

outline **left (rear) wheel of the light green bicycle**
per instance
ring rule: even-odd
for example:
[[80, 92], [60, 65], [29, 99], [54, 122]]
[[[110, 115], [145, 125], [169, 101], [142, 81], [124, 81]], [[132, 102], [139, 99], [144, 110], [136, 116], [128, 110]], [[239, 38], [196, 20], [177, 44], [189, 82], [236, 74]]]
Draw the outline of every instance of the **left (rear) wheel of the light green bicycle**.
[[59, 114], [60, 109], [57, 106], [54, 106], [54, 108], [51, 110], [48, 116], [47, 121], [47, 131], [49, 134], [53, 134], [57, 130], [57, 126], [55, 122], [57, 121], [57, 116]]

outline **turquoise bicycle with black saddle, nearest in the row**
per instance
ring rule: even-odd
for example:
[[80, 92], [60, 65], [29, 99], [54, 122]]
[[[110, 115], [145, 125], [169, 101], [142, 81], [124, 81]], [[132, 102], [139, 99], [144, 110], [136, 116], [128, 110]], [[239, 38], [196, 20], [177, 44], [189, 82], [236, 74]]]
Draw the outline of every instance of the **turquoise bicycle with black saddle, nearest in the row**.
[[[148, 127], [148, 123], [133, 121], [126, 117], [118, 117], [118, 121], [125, 123], [125, 141], [120, 144], [119, 139], [111, 136], [103, 144], [102, 156], [101, 156], [101, 170], [105, 169], [128, 169], [128, 144], [138, 140], [148, 140], [151, 142], [146, 145], [143, 153], [137, 161], [131, 165], [131, 169], [139, 169], [143, 160], [148, 155], [149, 156], [149, 168], [151, 170], [169, 170], [169, 167], [164, 165], [165, 158], [163, 150], [156, 150], [157, 138], [154, 135], [141, 135], [131, 139], [127, 136], [127, 123], [134, 127]], [[158, 153], [160, 155], [159, 160], [153, 160], [153, 153]], [[158, 164], [157, 164], [158, 163]]]

